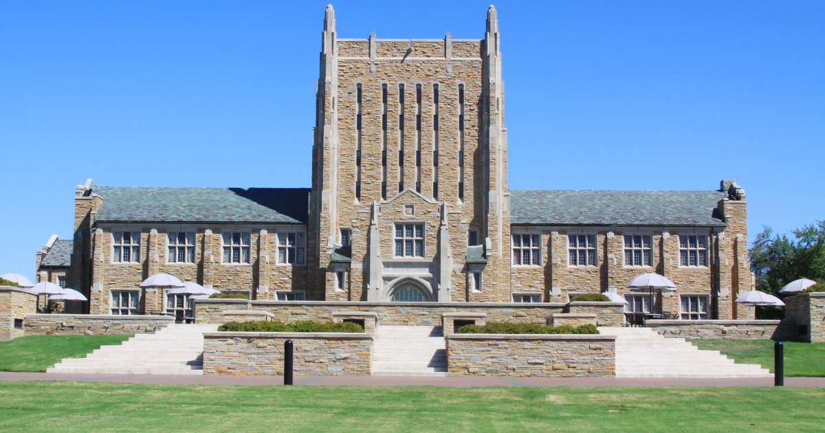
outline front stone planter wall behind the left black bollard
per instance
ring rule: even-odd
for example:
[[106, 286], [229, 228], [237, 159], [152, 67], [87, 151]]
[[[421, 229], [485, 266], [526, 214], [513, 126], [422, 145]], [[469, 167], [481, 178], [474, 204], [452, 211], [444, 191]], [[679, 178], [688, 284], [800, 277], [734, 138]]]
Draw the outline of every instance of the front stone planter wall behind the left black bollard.
[[336, 332], [207, 332], [205, 374], [284, 374], [284, 342], [295, 374], [370, 374], [373, 337]]

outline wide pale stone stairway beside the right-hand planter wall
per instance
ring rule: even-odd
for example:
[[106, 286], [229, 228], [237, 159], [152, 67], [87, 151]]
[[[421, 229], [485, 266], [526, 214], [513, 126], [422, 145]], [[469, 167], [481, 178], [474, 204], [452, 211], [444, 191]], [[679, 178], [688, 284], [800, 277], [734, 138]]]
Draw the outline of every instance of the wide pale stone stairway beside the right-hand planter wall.
[[761, 365], [734, 364], [719, 351], [700, 351], [684, 338], [647, 327], [600, 327], [616, 336], [617, 378], [772, 378]]

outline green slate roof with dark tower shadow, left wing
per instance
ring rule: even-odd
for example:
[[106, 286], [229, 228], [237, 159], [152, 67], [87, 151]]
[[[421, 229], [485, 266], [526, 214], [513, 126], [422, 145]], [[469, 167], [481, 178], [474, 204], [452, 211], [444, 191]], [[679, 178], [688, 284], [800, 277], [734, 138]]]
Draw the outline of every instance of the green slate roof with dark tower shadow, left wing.
[[101, 222], [306, 224], [309, 188], [92, 186]]

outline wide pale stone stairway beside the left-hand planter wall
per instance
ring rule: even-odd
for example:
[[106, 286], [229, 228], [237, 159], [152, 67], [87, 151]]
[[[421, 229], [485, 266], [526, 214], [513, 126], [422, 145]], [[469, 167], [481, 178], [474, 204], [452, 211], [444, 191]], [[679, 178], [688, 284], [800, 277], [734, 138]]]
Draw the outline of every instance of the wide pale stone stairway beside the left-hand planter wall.
[[173, 324], [137, 334], [118, 346], [101, 346], [85, 358], [66, 358], [47, 373], [203, 374], [204, 332], [218, 325]]

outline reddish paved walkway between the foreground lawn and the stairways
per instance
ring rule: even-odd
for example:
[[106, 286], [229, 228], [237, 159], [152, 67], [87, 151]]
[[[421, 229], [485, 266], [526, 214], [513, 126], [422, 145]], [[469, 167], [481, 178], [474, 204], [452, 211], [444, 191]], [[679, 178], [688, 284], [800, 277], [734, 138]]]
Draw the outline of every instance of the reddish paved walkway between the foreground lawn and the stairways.
[[[26, 380], [64, 382], [108, 382], [115, 384], [175, 385], [281, 385], [281, 376], [165, 376], [160, 374], [52, 374], [0, 373], [0, 382]], [[399, 377], [399, 376], [295, 376], [296, 385], [351, 386], [444, 386], [456, 388], [488, 386], [629, 386], [629, 387], [752, 387], [773, 386], [773, 379], [599, 379], [599, 378], [499, 378], [499, 377]], [[785, 378], [785, 386], [825, 387], [825, 378]]]

